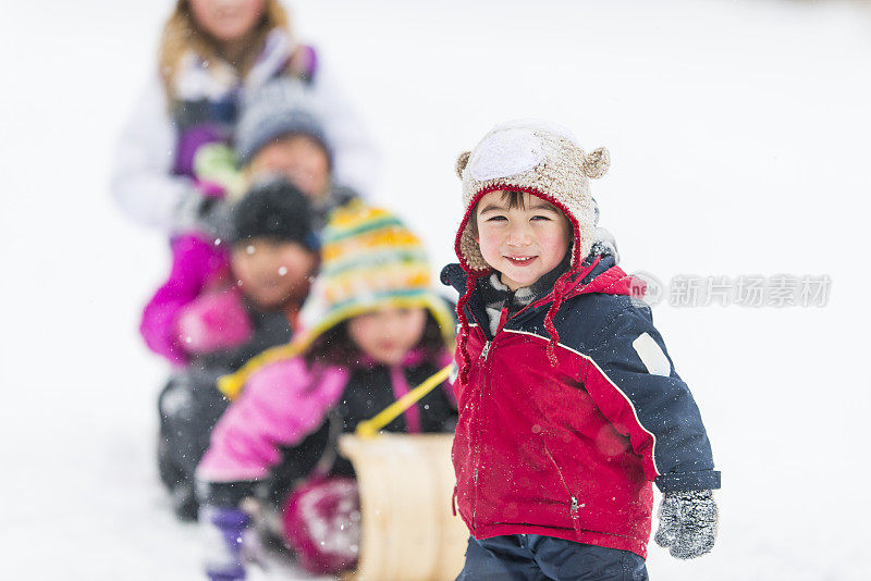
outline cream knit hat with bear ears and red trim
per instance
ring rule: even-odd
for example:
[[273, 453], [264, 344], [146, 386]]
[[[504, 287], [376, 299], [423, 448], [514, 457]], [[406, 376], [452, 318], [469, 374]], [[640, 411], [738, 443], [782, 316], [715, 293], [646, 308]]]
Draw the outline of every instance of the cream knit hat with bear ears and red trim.
[[610, 164], [608, 149], [587, 153], [569, 131], [544, 121], [512, 121], [490, 129], [473, 151], [456, 160], [465, 215], [455, 248], [463, 267], [478, 273], [490, 270], [475, 242], [469, 217], [484, 194], [511, 189], [543, 198], [566, 214], [574, 228], [572, 262], [577, 268], [594, 238], [590, 178], [603, 176]]

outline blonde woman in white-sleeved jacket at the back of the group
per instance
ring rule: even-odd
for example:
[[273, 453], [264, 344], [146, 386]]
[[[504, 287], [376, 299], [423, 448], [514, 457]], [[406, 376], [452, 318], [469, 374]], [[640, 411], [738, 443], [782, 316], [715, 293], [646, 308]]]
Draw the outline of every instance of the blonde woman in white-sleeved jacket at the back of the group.
[[209, 196], [196, 187], [194, 153], [229, 140], [241, 100], [281, 75], [309, 84], [335, 145], [336, 183], [368, 194], [377, 165], [371, 140], [314, 49], [294, 39], [278, 0], [179, 0], [163, 28], [159, 69], [115, 151], [112, 194], [125, 213], [169, 235], [189, 228]]

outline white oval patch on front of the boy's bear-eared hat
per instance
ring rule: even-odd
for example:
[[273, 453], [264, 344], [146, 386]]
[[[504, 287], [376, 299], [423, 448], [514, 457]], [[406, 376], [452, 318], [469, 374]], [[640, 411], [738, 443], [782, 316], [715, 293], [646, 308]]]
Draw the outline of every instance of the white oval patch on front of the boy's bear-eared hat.
[[475, 180], [483, 182], [523, 173], [543, 160], [541, 139], [528, 129], [505, 129], [478, 144], [469, 171]]

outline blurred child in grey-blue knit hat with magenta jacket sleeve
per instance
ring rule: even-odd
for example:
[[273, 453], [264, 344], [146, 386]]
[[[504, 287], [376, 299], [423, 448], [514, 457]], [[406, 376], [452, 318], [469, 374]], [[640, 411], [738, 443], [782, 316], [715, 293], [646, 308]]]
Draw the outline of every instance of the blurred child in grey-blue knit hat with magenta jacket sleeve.
[[244, 101], [235, 151], [224, 145], [199, 149], [198, 187], [208, 196], [196, 199], [186, 228], [172, 238], [172, 270], [143, 310], [139, 325], [148, 348], [174, 366], [189, 361], [175, 333], [179, 313], [228, 274], [229, 211], [247, 184], [275, 176], [293, 183], [308, 200], [316, 232], [330, 211], [354, 199], [352, 190], [333, 181], [334, 139], [320, 112], [300, 82], [273, 79]]

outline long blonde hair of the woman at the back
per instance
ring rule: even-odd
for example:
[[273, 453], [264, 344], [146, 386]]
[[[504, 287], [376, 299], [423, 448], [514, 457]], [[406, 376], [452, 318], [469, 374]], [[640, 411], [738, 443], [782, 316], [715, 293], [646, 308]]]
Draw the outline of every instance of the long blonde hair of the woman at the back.
[[[266, 37], [274, 28], [290, 30], [287, 13], [279, 0], [265, 0], [263, 14], [250, 35], [250, 44], [240, 62], [235, 63], [241, 75], [245, 75], [254, 65], [263, 49]], [[179, 63], [188, 50], [193, 50], [206, 61], [219, 59], [219, 44], [196, 22], [191, 10], [189, 0], [179, 0], [175, 10], [163, 26], [158, 51], [160, 78], [167, 96], [172, 100], [175, 96], [174, 81], [179, 72]]]

